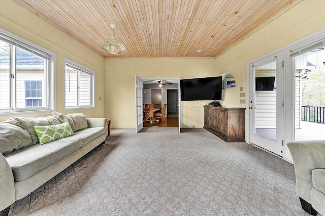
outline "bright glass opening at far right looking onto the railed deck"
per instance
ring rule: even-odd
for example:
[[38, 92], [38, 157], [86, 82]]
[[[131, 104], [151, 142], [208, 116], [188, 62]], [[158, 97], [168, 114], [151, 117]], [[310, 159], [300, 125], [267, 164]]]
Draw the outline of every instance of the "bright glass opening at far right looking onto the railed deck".
[[294, 141], [325, 140], [325, 47], [291, 55], [295, 67]]

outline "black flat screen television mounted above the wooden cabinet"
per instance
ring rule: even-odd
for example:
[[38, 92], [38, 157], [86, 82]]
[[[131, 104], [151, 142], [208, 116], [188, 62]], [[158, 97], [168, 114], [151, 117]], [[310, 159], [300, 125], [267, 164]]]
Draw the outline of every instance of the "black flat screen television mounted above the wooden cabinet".
[[182, 101], [221, 100], [222, 76], [181, 79]]

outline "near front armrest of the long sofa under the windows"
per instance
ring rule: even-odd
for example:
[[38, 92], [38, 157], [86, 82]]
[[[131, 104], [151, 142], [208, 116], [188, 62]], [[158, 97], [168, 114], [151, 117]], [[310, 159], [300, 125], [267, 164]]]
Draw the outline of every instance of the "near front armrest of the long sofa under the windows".
[[14, 175], [2, 153], [0, 153], [0, 194], [0, 210], [16, 201]]

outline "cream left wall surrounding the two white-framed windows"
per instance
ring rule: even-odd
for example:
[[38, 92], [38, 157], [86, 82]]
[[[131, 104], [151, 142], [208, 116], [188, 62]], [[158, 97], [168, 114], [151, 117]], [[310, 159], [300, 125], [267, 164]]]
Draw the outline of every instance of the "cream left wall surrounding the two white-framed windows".
[[[104, 116], [104, 58], [57, 30], [38, 16], [11, 0], [0, 0], [0, 27], [56, 53], [56, 108], [62, 113], [84, 113], [87, 117]], [[95, 109], [63, 111], [63, 57], [95, 71]], [[99, 98], [102, 100], [99, 100]], [[52, 115], [51, 112], [24, 117]], [[10, 117], [0, 116], [0, 121]]]

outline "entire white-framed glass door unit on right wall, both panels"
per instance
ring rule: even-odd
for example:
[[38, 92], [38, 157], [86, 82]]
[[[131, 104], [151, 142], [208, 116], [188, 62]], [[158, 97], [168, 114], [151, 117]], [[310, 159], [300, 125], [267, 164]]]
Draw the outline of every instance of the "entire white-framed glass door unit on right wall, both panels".
[[320, 30], [248, 63], [249, 143], [292, 162], [288, 142], [325, 139], [324, 45]]

